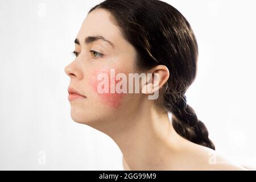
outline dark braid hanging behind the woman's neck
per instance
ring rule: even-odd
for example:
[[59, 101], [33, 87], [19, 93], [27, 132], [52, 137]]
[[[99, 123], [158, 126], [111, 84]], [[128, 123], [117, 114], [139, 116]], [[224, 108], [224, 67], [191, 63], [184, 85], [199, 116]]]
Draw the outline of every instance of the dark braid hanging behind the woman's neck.
[[185, 96], [174, 102], [171, 111], [173, 113], [172, 123], [178, 134], [193, 143], [215, 150], [213, 142], [208, 138], [207, 127], [197, 119], [195, 111], [187, 104]]

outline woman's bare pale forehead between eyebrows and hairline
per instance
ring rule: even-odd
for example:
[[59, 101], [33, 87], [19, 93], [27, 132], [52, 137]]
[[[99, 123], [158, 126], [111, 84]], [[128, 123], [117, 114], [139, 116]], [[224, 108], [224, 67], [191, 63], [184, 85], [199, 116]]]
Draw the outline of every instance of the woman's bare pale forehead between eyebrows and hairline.
[[77, 38], [84, 42], [87, 36], [103, 36], [114, 44], [123, 39], [119, 28], [111, 22], [110, 13], [103, 9], [93, 10], [86, 16]]

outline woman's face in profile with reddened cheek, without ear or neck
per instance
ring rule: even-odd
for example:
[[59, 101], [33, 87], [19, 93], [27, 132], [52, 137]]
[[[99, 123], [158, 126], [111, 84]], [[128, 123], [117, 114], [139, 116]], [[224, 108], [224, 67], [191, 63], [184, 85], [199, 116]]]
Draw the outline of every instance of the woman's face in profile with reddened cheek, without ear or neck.
[[111, 22], [108, 11], [96, 9], [88, 14], [77, 35], [75, 52], [76, 59], [65, 67], [65, 72], [71, 78], [69, 88], [86, 98], [69, 100], [74, 121], [96, 127], [138, 110], [141, 94], [100, 93], [98, 90], [103, 81], [98, 76], [102, 73], [109, 77], [109, 90], [113, 83], [117, 84], [113, 77], [113, 82], [110, 80], [110, 69], [114, 70], [114, 77], [125, 73], [128, 78], [128, 73], [134, 73], [135, 49]]

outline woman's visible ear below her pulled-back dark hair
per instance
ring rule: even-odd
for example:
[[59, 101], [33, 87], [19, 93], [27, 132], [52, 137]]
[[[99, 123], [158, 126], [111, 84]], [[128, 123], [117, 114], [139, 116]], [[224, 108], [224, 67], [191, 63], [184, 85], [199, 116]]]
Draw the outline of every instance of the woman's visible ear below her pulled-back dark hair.
[[165, 65], [157, 65], [156, 67], [150, 69], [146, 75], [147, 82], [142, 85], [142, 93], [152, 94], [163, 87], [170, 77], [170, 72]]

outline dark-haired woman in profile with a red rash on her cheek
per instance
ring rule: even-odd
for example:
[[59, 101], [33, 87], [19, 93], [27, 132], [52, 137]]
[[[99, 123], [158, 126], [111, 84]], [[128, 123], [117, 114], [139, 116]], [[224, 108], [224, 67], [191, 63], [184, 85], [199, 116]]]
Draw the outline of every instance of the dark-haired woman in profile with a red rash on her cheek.
[[[198, 49], [174, 7], [156, 0], [104, 1], [86, 16], [73, 53], [76, 59], [65, 68], [71, 117], [109, 135], [122, 151], [124, 169], [245, 169], [217, 154], [187, 104]], [[147, 75], [139, 93], [123, 92], [133, 88], [128, 78], [136, 73]], [[107, 92], [113, 88], [122, 92]]]

